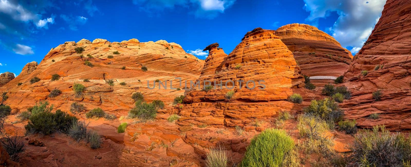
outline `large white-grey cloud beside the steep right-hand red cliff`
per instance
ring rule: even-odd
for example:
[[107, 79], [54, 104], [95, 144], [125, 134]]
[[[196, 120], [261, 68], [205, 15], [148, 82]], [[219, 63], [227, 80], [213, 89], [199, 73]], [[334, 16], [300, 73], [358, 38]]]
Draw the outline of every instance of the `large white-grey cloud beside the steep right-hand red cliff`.
[[381, 16], [386, 0], [304, 0], [305, 9], [310, 12], [307, 20], [313, 23], [326, 18], [330, 12], [339, 15], [329, 28], [332, 36], [343, 47], [353, 47], [355, 54], [367, 41]]

